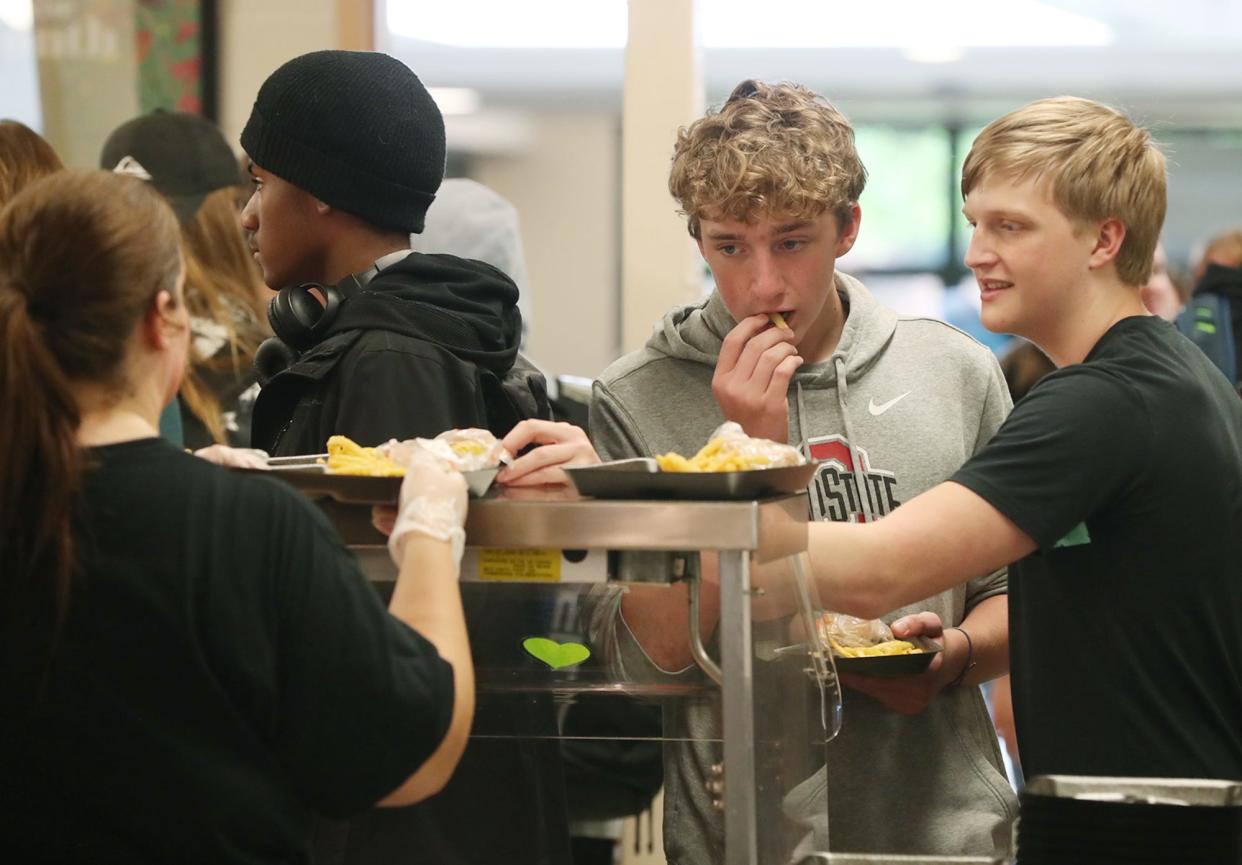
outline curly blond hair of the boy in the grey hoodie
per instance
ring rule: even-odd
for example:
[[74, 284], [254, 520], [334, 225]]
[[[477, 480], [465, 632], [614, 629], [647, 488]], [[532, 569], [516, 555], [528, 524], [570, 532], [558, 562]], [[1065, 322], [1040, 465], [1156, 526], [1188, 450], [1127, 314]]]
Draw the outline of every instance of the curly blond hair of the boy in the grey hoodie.
[[677, 133], [668, 191], [699, 236], [702, 219], [758, 213], [850, 220], [867, 169], [850, 121], [823, 97], [794, 83], [744, 81], [719, 111]]

